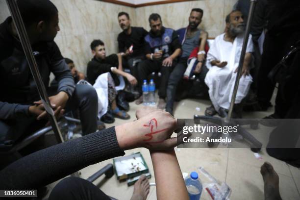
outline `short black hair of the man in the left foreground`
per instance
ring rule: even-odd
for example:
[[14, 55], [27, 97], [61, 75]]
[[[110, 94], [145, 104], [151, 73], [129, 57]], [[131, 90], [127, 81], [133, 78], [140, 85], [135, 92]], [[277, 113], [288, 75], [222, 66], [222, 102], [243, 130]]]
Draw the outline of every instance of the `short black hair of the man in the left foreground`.
[[48, 23], [58, 13], [50, 0], [18, 0], [17, 3], [25, 27], [40, 21]]

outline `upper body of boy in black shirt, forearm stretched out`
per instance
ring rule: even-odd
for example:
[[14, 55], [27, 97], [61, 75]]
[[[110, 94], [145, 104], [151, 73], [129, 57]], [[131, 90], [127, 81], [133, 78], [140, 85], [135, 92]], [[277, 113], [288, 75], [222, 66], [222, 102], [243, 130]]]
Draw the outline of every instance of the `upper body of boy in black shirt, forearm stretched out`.
[[120, 84], [117, 75], [127, 78], [128, 82], [132, 85], [137, 84], [137, 80], [133, 75], [122, 71], [122, 55], [120, 53], [106, 56], [104, 43], [101, 40], [93, 40], [91, 50], [94, 57], [88, 63], [86, 74], [87, 80], [92, 85], [94, 85], [99, 75], [107, 72], [113, 77], [116, 86]]

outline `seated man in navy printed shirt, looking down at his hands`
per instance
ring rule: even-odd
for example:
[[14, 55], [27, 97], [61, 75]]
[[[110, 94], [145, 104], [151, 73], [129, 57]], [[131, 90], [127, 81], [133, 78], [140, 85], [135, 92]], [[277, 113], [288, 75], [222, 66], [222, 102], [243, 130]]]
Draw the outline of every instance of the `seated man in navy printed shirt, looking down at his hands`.
[[[181, 52], [181, 46], [175, 30], [165, 28], [159, 14], [152, 13], [149, 17], [149, 23], [151, 30], [145, 37], [147, 59], [143, 60], [138, 67], [138, 89], [140, 95], [142, 95], [143, 80], [147, 79], [147, 76], [152, 72], [161, 72], [157, 107], [164, 109], [168, 79], [175, 66], [175, 59]], [[136, 100], [136, 104], [142, 102], [143, 96]]]

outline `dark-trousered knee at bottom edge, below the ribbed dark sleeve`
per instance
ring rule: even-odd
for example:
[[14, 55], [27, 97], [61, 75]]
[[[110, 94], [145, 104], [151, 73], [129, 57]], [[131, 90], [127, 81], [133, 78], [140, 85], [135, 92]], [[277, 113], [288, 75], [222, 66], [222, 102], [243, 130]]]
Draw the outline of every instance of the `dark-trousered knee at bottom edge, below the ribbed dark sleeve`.
[[111, 200], [93, 183], [78, 177], [61, 180], [52, 190], [49, 200]]

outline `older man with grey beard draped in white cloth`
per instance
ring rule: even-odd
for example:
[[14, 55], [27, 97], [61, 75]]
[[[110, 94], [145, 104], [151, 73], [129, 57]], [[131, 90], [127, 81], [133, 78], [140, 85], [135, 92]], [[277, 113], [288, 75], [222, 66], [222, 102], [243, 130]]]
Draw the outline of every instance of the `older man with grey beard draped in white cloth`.
[[[225, 33], [215, 38], [207, 53], [206, 65], [211, 68], [205, 77], [205, 83], [209, 88], [212, 106], [206, 108], [205, 115], [212, 116], [218, 112], [221, 117], [225, 117], [233, 94], [245, 32], [242, 12], [232, 11], [226, 16], [225, 22]], [[252, 82], [252, 77], [249, 75], [252, 51], [253, 44], [250, 35], [234, 106], [234, 113], [237, 114], [235, 117], [239, 118], [241, 118], [240, 103], [247, 95]]]

